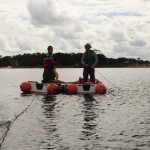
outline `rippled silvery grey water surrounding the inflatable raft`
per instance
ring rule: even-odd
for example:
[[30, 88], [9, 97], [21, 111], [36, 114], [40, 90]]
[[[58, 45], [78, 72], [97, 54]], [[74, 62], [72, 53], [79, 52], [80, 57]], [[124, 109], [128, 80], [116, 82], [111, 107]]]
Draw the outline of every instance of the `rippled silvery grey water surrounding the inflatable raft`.
[[[82, 69], [57, 69], [76, 81]], [[150, 69], [97, 68], [105, 95], [23, 95], [43, 69], [0, 69], [0, 149], [149, 150]]]

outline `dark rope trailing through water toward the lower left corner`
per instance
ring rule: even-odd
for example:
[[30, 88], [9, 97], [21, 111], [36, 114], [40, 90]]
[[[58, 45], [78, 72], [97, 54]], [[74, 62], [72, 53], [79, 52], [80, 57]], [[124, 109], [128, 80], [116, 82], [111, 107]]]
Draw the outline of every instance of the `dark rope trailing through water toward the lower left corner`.
[[10, 127], [13, 125], [13, 123], [18, 119], [18, 117], [20, 117], [21, 115], [23, 115], [31, 106], [31, 104], [33, 103], [33, 101], [35, 100], [36, 95], [34, 96], [34, 98], [32, 99], [32, 101], [30, 102], [30, 104], [21, 112], [19, 113], [17, 116], [15, 116], [15, 118], [13, 119], [13, 121], [8, 121], [8, 125], [7, 125], [7, 130], [5, 131], [5, 133], [2, 135], [2, 137], [0, 138], [0, 147], [2, 146], [2, 143], [5, 141], [5, 138], [8, 134], [8, 131], [10, 130]]

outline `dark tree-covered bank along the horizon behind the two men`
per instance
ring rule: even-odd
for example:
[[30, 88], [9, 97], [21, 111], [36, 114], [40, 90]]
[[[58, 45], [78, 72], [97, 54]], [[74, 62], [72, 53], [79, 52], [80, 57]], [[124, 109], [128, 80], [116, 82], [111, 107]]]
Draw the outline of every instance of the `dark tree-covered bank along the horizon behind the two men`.
[[[81, 57], [83, 53], [55, 53], [56, 67], [82, 67]], [[44, 53], [33, 54], [19, 54], [15, 56], [0, 56], [0, 67], [43, 67]], [[97, 54], [98, 65], [97, 67], [149, 67], [150, 62], [144, 61], [140, 58], [107, 58], [103, 54]]]

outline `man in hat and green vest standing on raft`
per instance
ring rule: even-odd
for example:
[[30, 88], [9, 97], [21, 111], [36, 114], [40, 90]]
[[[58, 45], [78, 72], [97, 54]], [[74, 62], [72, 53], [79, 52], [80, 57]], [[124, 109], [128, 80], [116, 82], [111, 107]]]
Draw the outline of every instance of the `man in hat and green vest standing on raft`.
[[93, 50], [90, 50], [92, 46], [85, 44], [85, 52], [82, 55], [81, 63], [84, 66], [83, 78], [84, 82], [87, 82], [88, 75], [90, 75], [91, 82], [95, 83], [95, 65], [98, 63], [98, 58]]

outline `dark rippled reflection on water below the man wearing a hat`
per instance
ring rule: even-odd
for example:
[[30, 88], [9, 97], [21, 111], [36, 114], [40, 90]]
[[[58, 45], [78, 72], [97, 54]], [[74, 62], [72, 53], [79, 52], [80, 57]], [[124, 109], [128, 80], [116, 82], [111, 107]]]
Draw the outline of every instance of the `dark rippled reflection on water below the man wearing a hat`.
[[[84, 149], [91, 150], [95, 149], [95, 142], [99, 139], [98, 134], [96, 132], [96, 118], [98, 114], [95, 112], [95, 102], [92, 94], [83, 95], [83, 110], [82, 113], [84, 115], [83, 126], [82, 126], [82, 135], [80, 139], [84, 141]], [[94, 142], [95, 141], [95, 142]]]

